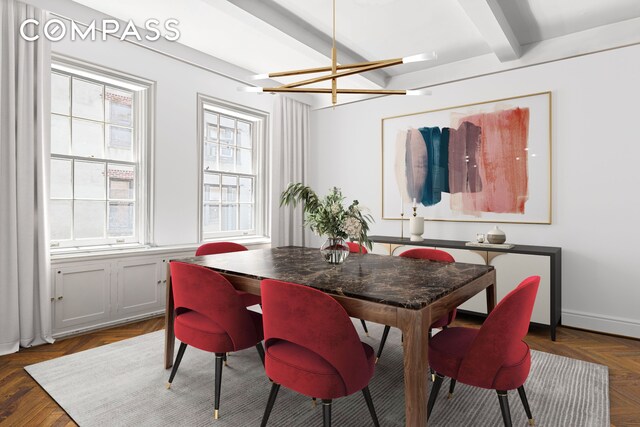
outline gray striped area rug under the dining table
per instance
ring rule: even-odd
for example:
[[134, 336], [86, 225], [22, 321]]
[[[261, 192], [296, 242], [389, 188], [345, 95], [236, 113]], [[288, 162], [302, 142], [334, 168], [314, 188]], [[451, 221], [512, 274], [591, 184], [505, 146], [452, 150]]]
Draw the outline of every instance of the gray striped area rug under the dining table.
[[[382, 327], [368, 323], [377, 348]], [[359, 322], [356, 328], [362, 331]], [[258, 426], [269, 394], [255, 349], [233, 353], [222, 373], [221, 418], [213, 420], [214, 358], [189, 347], [170, 390], [163, 368], [164, 331], [27, 366], [29, 374], [80, 426]], [[177, 346], [176, 346], [177, 348]], [[606, 366], [532, 352], [525, 384], [538, 426], [609, 426], [609, 373]], [[404, 425], [400, 333], [391, 329], [370, 390], [381, 426]], [[430, 426], [501, 426], [494, 391], [457, 384], [447, 400], [440, 391]], [[527, 419], [516, 391], [509, 393], [514, 426]], [[269, 426], [322, 425], [320, 406], [284, 388]], [[333, 425], [372, 425], [361, 393], [338, 399]]]

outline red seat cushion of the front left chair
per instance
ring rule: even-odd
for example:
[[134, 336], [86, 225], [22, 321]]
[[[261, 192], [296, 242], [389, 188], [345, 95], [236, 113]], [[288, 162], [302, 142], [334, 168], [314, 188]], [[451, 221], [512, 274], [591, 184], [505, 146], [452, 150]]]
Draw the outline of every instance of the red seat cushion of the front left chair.
[[[251, 310], [247, 311], [256, 328], [258, 341], [261, 341], [263, 339], [262, 316]], [[247, 348], [238, 348], [220, 325], [195, 311], [177, 315], [174, 321], [174, 329], [176, 338], [200, 350], [212, 353], [226, 353]]]

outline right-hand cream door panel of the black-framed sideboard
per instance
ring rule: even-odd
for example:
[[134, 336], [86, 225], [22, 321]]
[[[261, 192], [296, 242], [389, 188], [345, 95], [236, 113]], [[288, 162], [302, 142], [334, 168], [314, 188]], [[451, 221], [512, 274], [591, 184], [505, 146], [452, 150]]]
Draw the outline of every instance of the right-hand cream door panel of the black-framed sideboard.
[[[492, 256], [494, 256], [493, 259]], [[551, 324], [551, 261], [549, 257], [489, 252], [489, 259], [489, 265], [496, 268], [498, 301], [515, 289], [525, 278], [540, 276], [540, 287], [533, 306], [531, 321], [543, 325]]]

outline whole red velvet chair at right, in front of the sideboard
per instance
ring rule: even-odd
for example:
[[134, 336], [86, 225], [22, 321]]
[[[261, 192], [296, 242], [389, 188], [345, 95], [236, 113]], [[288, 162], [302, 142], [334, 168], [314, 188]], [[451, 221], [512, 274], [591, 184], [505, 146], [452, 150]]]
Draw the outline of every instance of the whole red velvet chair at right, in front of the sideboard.
[[436, 380], [429, 396], [428, 414], [446, 376], [451, 378], [450, 392], [456, 381], [496, 390], [505, 426], [511, 426], [507, 391], [518, 389], [533, 425], [524, 391], [531, 353], [523, 339], [529, 330], [539, 285], [540, 276], [523, 280], [500, 301], [480, 329], [448, 328], [433, 337], [429, 343], [429, 364], [436, 371]]

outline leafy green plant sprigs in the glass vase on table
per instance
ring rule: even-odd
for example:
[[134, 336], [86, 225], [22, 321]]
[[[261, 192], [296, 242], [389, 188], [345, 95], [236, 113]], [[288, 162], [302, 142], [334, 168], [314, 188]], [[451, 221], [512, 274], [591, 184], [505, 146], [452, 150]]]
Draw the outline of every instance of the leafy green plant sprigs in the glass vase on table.
[[280, 196], [280, 206], [302, 203], [305, 225], [319, 236], [350, 238], [372, 248], [367, 237], [373, 217], [363, 212], [357, 200], [344, 207], [345, 197], [339, 188], [333, 187], [323, 199], [302, 183], [289, 184]]

